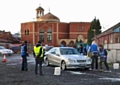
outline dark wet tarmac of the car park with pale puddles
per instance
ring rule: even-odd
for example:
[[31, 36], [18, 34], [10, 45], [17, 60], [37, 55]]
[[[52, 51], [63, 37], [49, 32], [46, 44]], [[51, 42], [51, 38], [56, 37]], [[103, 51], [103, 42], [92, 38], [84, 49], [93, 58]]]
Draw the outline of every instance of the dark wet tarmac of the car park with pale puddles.
[[7, 62], [2, 62], [0, 56], [0, 85], [120, 85], [120, 69], [111, 68], [111, 72], [89, 71], [84, 69], [69, 69], [55, 76], [55, 66], [43, 64], [43, 76], [34, 73], [34, 57], [28, 57], [29, 71], [21, 72], [21, 57], [19, 54], [6, 56]]

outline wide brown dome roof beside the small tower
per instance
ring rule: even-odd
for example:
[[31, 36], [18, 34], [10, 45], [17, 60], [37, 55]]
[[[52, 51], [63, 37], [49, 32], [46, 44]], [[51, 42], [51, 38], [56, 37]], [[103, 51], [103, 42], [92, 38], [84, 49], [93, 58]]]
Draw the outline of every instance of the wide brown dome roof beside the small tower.
[[52, 13], [47, 13], [40, 17], [40, 21], [60, 21], [60, 19]]

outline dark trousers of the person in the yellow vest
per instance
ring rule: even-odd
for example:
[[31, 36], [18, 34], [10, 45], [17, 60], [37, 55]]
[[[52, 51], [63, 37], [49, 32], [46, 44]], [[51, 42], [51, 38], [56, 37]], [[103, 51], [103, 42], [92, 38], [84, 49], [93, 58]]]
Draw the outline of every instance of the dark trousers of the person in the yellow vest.
[[35, 59], [35, 74], [38, 74], [38, 65], [39, 65], [39, 74], [42, 74], [42, 62], [43, 59], [42, 58], [36, 58]]

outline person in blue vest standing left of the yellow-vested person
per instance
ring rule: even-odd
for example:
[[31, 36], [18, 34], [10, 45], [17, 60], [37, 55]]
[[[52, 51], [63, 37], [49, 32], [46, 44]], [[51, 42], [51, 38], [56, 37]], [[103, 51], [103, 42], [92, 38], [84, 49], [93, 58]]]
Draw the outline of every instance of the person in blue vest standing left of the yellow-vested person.
[[21, 57], [22, 57], [22, 68], [21, 71], [28, 71], [28, 65], [27, 65], [27, 41], [24, 41], [24, 43], [21, 45]]

